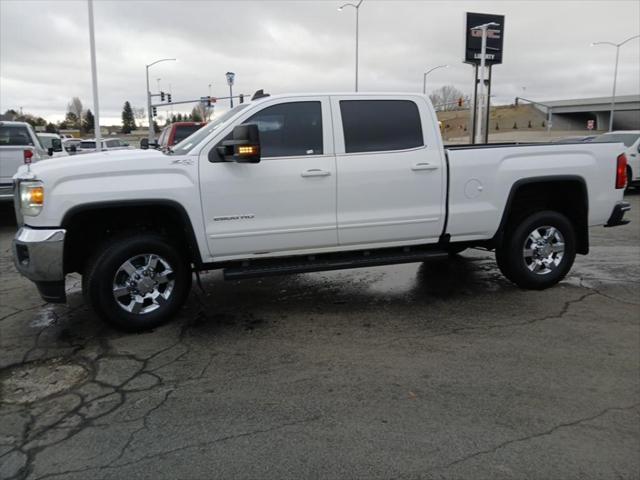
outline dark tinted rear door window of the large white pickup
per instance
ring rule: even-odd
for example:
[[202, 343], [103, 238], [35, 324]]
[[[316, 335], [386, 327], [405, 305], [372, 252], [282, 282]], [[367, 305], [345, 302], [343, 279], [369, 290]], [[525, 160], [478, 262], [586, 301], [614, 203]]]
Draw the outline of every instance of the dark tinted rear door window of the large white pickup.
[[424, 145], [418, 106], [410, 100], [341, 100], [346, 153]]

